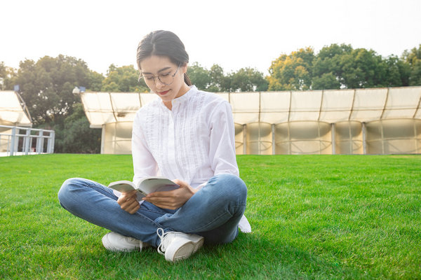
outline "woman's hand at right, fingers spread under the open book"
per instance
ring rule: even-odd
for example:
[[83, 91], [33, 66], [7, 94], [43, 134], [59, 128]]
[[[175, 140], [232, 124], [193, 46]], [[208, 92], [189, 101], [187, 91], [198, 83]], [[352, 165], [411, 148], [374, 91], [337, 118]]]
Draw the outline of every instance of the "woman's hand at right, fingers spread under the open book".
[[142, 200], [151, 202], [155, 206], [165, 209], [178, 209], [182, 207], [197, 190], [189, 186], [188, 183], [178, 179], [173, 180], [173, 182], [180, 186], [180, 188], [165, 192], [149, 193], [149, 195], [143, 197]]

